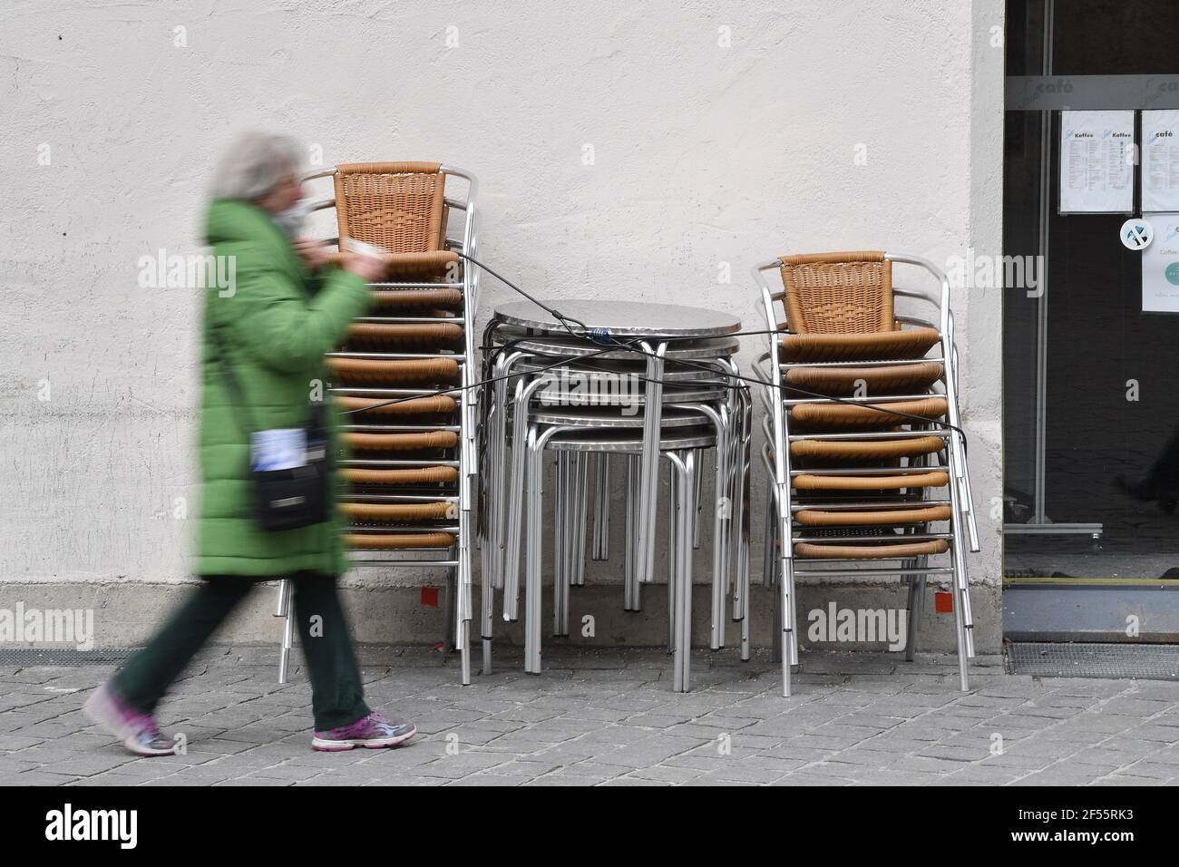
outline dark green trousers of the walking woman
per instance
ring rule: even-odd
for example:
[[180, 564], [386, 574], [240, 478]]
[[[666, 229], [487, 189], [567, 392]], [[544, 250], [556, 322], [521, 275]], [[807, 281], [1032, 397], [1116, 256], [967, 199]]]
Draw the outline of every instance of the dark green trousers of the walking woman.
[[[114, 676], [114, 685], [136, 710], [152, 714], [197, 651], [259, 582], [274, 578], [204, 576], [200, 586], [143, 650]], [[316, 731], [348, 725], [369, 715], [356, 651], [330, 574], [299, 572], [295, 585], [298, 625]]]

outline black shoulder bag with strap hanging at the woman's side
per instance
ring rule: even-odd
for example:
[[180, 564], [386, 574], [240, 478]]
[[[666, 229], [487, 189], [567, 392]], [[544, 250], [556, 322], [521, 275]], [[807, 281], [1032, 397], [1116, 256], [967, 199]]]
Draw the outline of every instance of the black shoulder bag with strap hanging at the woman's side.
[[230, 363], [220, 330], [216, 324], [210, 330], [217, 347], [217, 362], [222, 375], [225, 377], [232, 400], [242, 407], [245, 420], [244, 431], [250, 446], [250, 477], [253, 481], [253, 514], [258, 525], [266, 532], [276, 532], [323, 524], [330, 517], [330, 507], [335, 499], [324, 405], [322, 402], [310, 405], [308, 421], [303, 426], [307, 449], [302, 466], [288, 469], [255, 469], [253, 433], [257, 428], [251, 420], [245, 393]]

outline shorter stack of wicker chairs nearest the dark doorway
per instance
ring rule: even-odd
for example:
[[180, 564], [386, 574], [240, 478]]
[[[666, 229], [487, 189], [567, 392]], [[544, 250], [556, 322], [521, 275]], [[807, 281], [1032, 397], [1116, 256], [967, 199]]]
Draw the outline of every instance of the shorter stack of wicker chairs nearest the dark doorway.
[[[938, 278], [941, 298], [895, 290], [895, 262]], [[771, 270], [780, 291], [765, 280]], [[769, 328], [780, 334], [763, 356], [763, 379], [776, 512], [766, 563], [779, 584], [783, 694], [797, 663], [795, 578], [836, 576], [898, 574], [909, 584], [909, 658], [926, 578], [948, 579], [966, 689], [974, 643], [964, 551], [977, 550], [977, 534], [944, 275], [923, 260], [870, 251], [782, 256], [755, 275]], [[937, 306], [938, 322], [898, 316], [898, 295]]]

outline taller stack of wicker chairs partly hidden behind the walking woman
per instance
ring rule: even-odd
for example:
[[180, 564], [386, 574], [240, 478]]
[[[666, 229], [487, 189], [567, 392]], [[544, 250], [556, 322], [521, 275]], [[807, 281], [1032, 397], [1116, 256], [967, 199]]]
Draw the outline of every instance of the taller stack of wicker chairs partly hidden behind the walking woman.
[[[459, 252], [475, 255], [476, 183], [437, 163], [354, 163], [312, 177], [334, 178], [335, 198], [316, 208], [335, 206], [341, 252], [351, 238], [381, 248], [387, 264], [369, 315], [328, 354], [351, 453], [338, 506], [347, 544], [361, 566], [447, 570], [443, 644], [460, 651], [469, 683], [477, 283]], [[449, 177], [466, 182], [465, 198], [447, 196]], [[461, 225], [457, 237], [448, 223]]]

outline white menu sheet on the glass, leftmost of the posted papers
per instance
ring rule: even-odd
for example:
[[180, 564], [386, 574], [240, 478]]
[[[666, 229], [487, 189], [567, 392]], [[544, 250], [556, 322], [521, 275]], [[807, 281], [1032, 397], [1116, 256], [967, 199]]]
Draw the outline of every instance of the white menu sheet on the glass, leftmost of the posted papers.
[[1132, 214], [1134, 112], [1060, 112], [1060, 212]]

